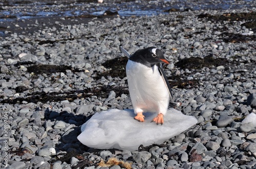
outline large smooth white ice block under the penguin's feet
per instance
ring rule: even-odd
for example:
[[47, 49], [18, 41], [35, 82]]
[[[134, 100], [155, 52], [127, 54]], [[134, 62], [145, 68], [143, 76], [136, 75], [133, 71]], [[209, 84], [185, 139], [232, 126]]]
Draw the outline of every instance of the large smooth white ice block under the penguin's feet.
[[97, 112], [81, 126], [78, 140], [91, 148], [138, 150], [140, 145], [162, 144], [197, 123], [193, 116], [183, 115], [176, 109], [168, 109], [164, 124], [151, 123], [157, 114], [143, 113], [145, 122], [134, 120], [132, 109], [110, 109]]

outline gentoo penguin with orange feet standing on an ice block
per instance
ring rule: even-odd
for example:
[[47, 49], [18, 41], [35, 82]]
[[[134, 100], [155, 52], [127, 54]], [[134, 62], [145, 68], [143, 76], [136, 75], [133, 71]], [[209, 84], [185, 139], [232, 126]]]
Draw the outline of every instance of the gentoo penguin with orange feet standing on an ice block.
[[157, 112], [152, 122], [163, 124], [172, 93], [161, 63], [169, 62], [156, 47], [138, 50], [132, 56], [122, 47], [120, 49], [129, 58], [126, 75], [136, 114], [134, 119], [144, 122], [143, 112]]

